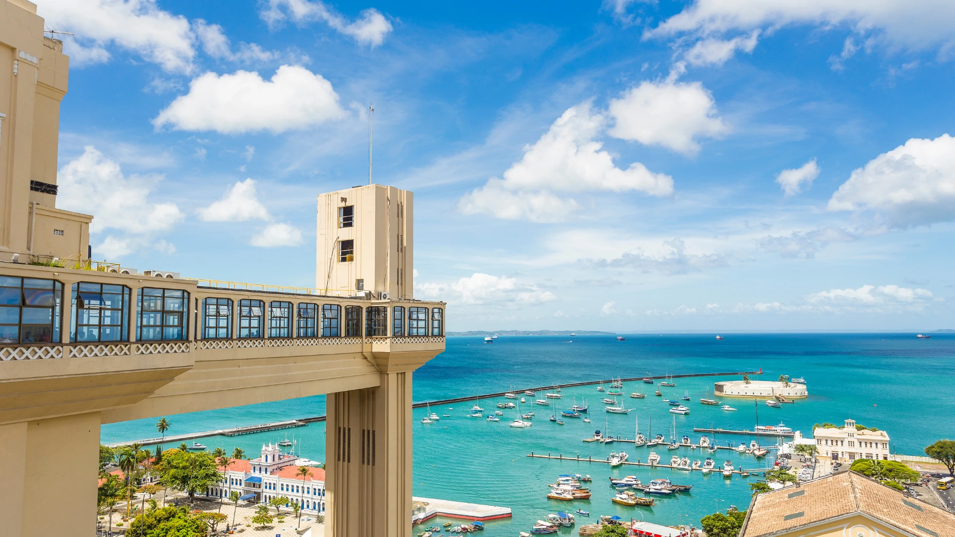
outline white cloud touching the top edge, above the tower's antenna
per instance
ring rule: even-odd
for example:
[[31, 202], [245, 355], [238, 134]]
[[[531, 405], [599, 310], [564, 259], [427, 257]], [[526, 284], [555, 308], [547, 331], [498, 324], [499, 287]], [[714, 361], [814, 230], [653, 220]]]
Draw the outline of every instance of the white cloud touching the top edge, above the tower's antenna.
[[393, 30], [392, 23], [373, 8], [362, 11], [361, 18], [352, 22], [319, 0], [268, 0], [267, 9], [260, 15], [269, 26], [275, 26], [286, 18], [299, 24], [320, 20], [336, 32], [349, 35], [355, 41], [371, 47], [384, 43], [385, 37]]

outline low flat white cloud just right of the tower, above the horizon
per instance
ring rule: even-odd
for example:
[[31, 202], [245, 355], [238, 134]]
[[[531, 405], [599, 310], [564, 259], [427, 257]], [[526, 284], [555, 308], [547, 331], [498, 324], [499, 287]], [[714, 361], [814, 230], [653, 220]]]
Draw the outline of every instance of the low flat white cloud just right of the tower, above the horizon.
[[520, 284], [517, 278], [475, 272], [452, 283], [414, 284], [414, 292], [422, 298], [440, 299], [462, 306], [492, 305], [499, 308], [520, 308], [557, 300], [554, 293], [531, 284]]

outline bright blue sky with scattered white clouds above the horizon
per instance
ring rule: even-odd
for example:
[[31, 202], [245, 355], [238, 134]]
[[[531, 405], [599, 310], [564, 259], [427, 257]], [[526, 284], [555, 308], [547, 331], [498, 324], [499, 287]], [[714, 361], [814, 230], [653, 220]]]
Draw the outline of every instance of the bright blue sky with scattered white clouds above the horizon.
[[37, 3], [96, 259], [313, 286], [373, 102], [449, 330], [955, 328], [955, 4]]

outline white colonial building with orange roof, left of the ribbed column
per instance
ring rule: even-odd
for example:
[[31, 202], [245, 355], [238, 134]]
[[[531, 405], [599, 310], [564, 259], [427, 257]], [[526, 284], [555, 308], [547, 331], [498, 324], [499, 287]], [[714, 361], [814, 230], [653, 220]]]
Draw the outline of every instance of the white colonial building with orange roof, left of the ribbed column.
[[278, 445], [262, 446], [262, 456], [252, 461], [229, 462], [227, 468], [220, 466], [223, 481], [205, 491], [206, 496], [228, 498], [233, 490], [239, 491], [242, 500], [255, 504], [268, 504], [272, 498], [285, 496], [291, 507], [292, 500], [302, 505], [302, 511], [315, 515], [325, 514], [325, 470], [309, 467], [309, 475], [297, 475], [301, 459], [283, 453]]

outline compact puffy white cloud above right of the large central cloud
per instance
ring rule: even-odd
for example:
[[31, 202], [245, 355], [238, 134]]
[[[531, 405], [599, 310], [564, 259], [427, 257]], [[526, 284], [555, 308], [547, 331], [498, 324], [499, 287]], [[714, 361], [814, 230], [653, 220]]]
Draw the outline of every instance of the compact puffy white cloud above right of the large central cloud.
[[700, 149], [695, 139], [727, 133], [729, 128], [716, 116], [716, 103], [703, 84], [676, 81], [681, 70], [678, 66], [666, 80], [645, 80], [611, 100], [610, 136], [692, 155]]

